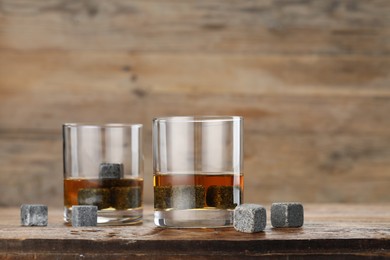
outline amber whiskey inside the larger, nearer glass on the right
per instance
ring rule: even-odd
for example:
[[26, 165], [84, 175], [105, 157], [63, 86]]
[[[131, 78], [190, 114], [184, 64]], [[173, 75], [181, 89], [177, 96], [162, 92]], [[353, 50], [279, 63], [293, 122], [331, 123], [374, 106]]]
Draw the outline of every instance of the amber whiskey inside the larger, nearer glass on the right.
[[[156, 206], [156, 200], [161, 200], [158, 189], [164, 187], [200, 187], [201, 194], [204, 194], [202, 206], [195, 208], [224, 208], [234, 209], [243, 201], [244, 179], [242, 174], [162, 174], [154, 175], [155, 208], [166, 209]], [[170, 193], [171, 194], [171, 193]], [[174, 194], [174, 193], [173, 193]], [[168, 195], [169, 196], [169, 195]], [[179, 195], [180, 196], [180, 195]], [[199, 196], [196, 195], [196, 199]], [[202, 195], [201, 195], [202, 196]], [[214, 198], [215, 197], [215, 198]], [[228, 198], [229, 201], [221, 201]], [[160, 203], [161, 204], [161, 203]], [[169, 204], [169, 203], [168, 203]], [[169, 208], [170, 206], [167, 206]], [[173, 206], [172, 206], [173, 207]], [[174, 208], [174, 207], [173, 207]]]

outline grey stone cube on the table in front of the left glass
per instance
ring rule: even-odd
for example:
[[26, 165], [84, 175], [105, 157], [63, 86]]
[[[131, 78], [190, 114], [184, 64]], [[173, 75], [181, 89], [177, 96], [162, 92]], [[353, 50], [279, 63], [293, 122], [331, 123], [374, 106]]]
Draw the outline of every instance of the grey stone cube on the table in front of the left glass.
[[93, 227], [97, 225], [96, 206], [72, 206], [73, 227]]

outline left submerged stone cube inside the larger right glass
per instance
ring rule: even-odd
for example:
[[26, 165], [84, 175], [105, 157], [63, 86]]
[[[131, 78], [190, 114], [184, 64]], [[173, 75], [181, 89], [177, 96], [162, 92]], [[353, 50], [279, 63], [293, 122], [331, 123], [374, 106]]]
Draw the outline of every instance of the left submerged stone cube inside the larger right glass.
[[172, 187], [172, 207], [194, 209], [204, 207], [205, 189], [202, 185], [178, 185]]

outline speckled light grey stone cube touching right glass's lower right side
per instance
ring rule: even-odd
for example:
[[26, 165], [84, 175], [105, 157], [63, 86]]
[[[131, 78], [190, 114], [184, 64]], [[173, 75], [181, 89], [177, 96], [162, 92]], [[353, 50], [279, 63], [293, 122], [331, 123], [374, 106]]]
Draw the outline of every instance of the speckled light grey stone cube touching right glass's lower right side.
[[234, 209], [233, 227], [240, 232], [263, 231], [267, 224], [266, 209], [257, 204], [241, 204]]

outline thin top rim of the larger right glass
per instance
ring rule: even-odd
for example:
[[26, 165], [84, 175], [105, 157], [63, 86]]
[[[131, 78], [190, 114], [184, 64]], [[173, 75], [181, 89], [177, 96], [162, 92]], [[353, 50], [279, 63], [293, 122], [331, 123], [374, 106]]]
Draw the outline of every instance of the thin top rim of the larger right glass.
[[200, 122], [238, 122], [242, 116], [166, 116], [155, 117], [153, 122], [200, 123]]

